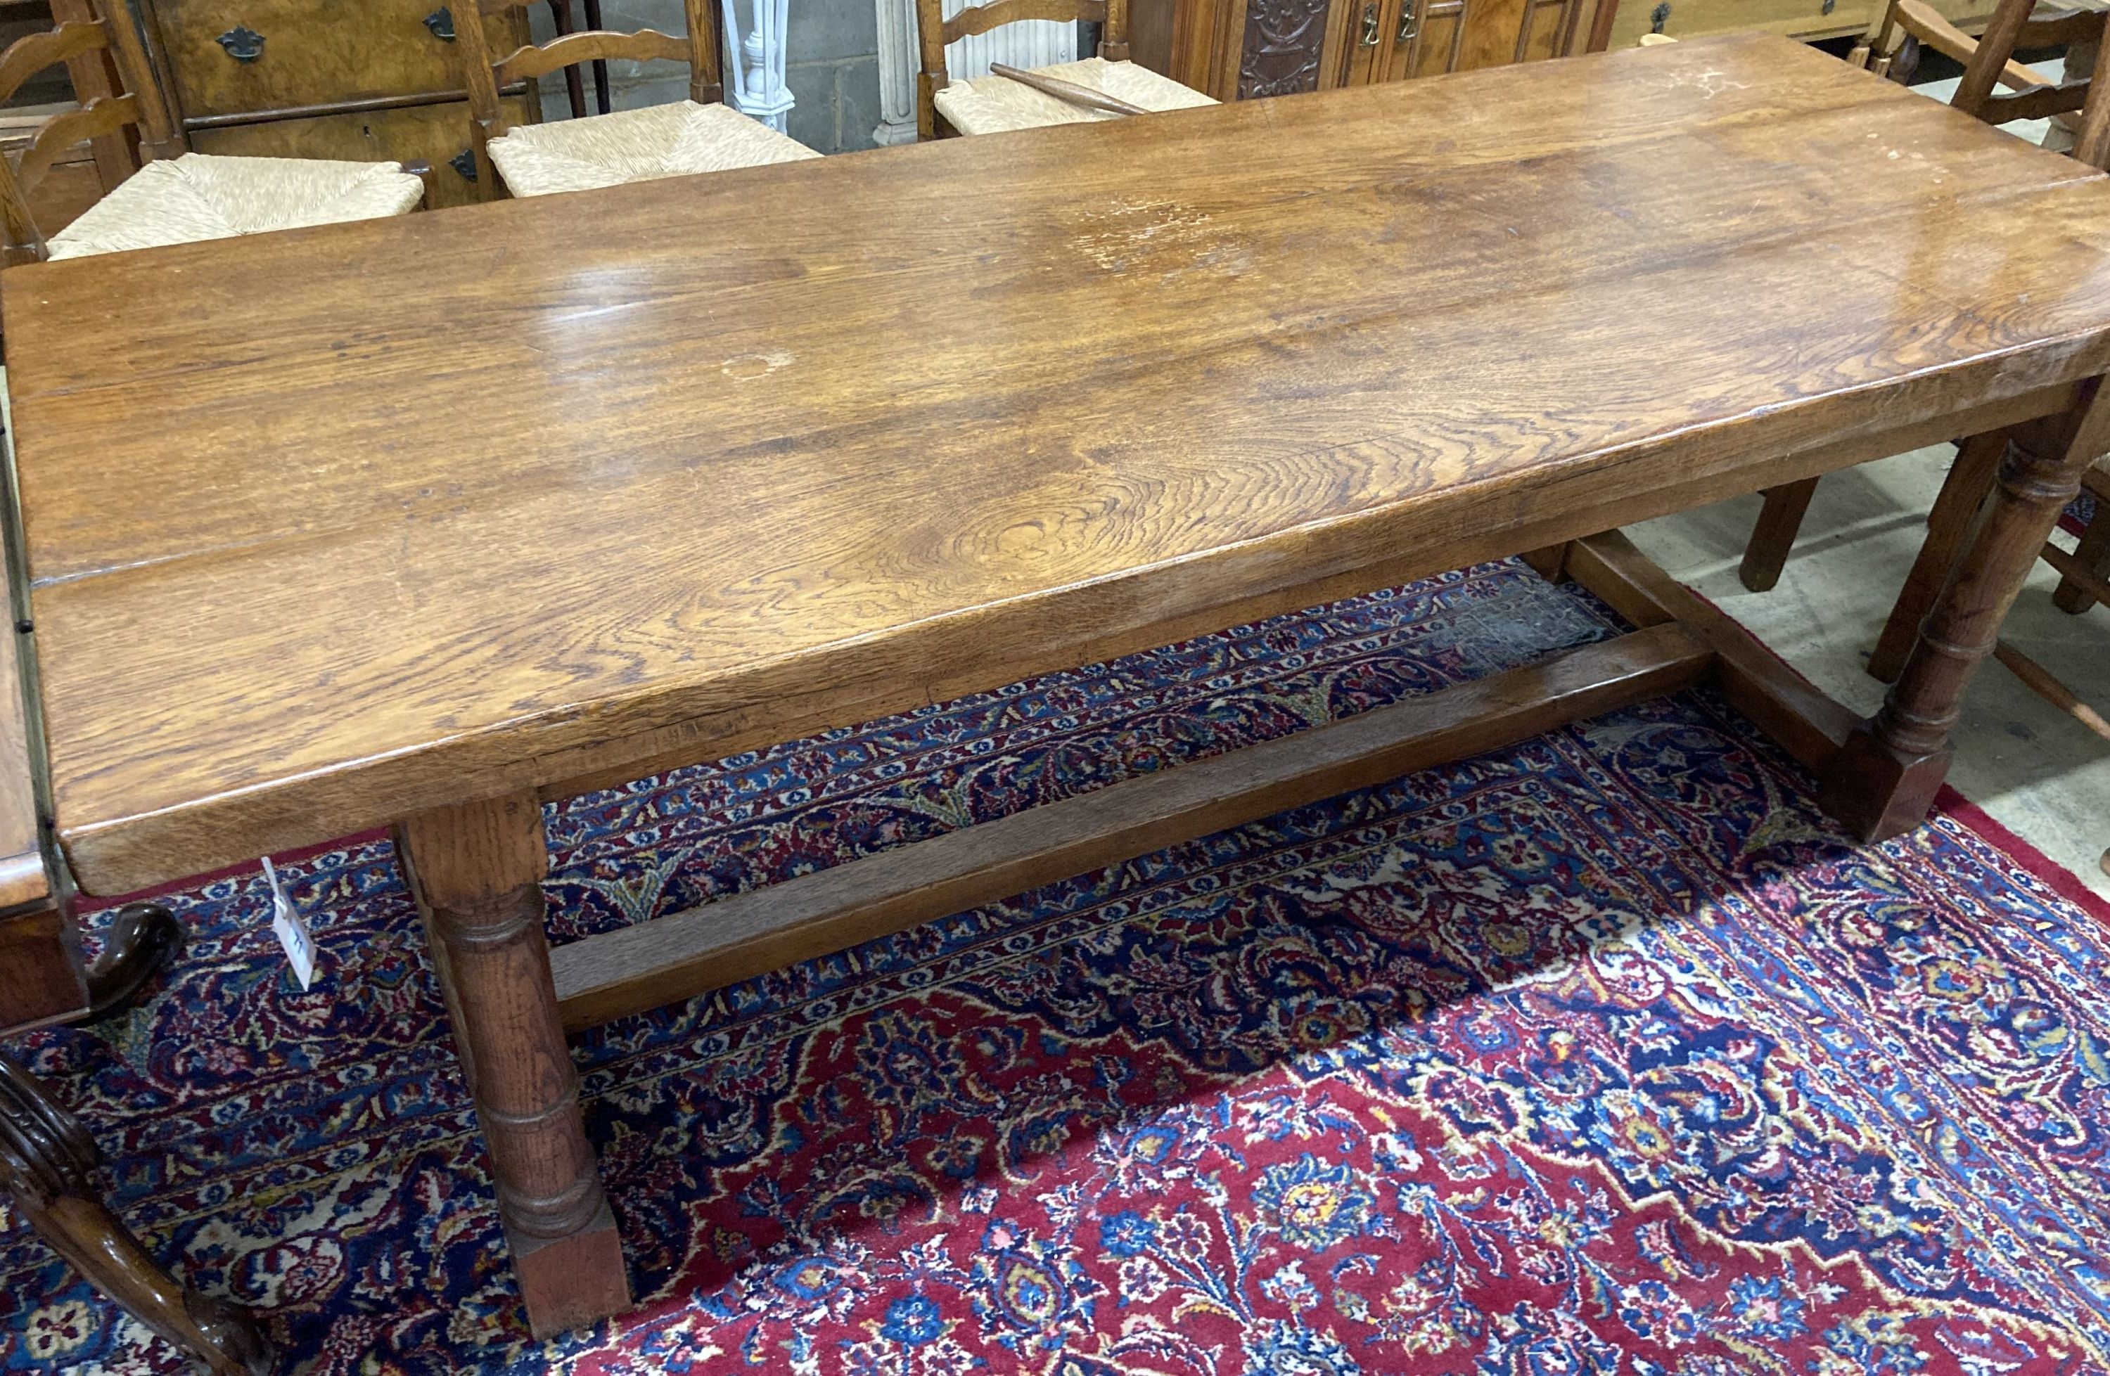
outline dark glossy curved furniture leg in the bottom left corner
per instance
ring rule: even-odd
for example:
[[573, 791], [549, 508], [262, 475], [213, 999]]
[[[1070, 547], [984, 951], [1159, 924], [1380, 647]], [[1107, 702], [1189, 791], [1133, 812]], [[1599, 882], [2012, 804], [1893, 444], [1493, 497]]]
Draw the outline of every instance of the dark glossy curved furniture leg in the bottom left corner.
[[30, 1226], [91, 1285], [222, 1376], [264, 1376], [270, 1342], [232, 1304], [169, 1275], [95, 1190], [95, 1142], [30, 1072], [0, 1057], [0, 1180]]

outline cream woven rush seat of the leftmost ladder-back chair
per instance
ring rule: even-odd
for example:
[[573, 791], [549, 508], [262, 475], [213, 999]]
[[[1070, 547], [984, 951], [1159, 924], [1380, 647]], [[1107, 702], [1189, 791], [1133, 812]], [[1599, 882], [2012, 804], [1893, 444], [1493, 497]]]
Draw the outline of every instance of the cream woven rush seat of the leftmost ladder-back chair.
[[424, 181], [401, 163], [215, 158], [154, 160], [51, 236], [51, 257], [158, 249], [418, 209]]

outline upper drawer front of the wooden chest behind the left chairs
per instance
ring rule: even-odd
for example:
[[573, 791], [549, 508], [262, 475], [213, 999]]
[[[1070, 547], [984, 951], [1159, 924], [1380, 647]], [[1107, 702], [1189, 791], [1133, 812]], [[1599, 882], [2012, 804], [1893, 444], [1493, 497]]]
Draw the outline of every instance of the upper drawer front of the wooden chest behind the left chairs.
[[[152, 0], [152, 13], [190, 118], [462, 87], [445, 0]], [[509, 53], [523, 11], [483, 23]]]

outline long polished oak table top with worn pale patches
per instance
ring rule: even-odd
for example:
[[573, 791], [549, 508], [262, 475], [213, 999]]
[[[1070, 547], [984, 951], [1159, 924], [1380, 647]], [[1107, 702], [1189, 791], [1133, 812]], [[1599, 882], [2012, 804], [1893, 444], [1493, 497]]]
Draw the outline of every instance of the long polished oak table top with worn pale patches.
[[11, 268], [0, 308], [59, 834], [116, 893], [2102, 371], [2110, 181], [1734, 36]]

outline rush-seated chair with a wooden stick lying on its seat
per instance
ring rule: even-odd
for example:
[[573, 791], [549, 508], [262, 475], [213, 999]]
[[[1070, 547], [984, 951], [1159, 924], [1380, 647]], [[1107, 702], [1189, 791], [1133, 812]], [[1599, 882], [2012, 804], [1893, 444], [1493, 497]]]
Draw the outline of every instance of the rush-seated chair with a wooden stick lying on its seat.
[[[950, 78], [947, 46], [1021, 19], [1093, 21], [1099, 25], [1099, 55], [1034, 68], [1025, 76], [1036, 84], [998, 74]], [[952, 19], [945, 19], [945, 0], [916, 0], [916, 42], [922, 49], [922, 72], [916, 76], [920, 139], [1110, 120], [1120, 118], [1123, 108], [1148, 114], [1215, 103], [1129, 61], [1129, 0], [994, 0], [962, 8]]]

